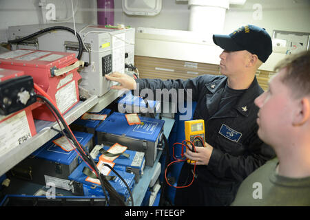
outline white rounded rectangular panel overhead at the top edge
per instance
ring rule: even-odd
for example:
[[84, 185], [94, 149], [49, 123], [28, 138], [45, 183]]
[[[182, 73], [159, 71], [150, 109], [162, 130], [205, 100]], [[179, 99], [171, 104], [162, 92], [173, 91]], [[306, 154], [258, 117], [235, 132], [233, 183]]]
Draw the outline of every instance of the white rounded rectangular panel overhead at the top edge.
[[123, 0], [122, 7], [126, 14], [154, 16], [161, 12], [161, 0]]

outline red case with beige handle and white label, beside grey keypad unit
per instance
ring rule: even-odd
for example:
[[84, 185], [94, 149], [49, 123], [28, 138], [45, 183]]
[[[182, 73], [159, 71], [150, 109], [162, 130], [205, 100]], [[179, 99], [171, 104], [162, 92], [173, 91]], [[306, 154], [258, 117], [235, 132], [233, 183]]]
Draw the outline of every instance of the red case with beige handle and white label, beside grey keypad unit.
[[[43, 50], [14, 50], [0, 54], [0, 67], [17, 69], [32, 76], [56, 103], [61, 113], [66, 113], [79, 102], [78, 80], [81, 79], [79, 61], [74, 53]], [[38, 120], [54, 121], [48, 107], [41, 105], [32, 111]]]

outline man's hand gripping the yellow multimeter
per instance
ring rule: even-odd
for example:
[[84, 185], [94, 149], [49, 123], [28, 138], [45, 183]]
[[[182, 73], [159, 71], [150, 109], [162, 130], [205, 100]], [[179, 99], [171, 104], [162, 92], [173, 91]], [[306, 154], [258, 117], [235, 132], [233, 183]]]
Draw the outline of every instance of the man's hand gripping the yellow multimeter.
[[184, 153], [185, 157], [196, 161], [196, 165], [208, 165], [213, 151], [213, 146], [205, 143], [205, 147], [196, 146], [196, 152], [192, 152], [189, 149]]

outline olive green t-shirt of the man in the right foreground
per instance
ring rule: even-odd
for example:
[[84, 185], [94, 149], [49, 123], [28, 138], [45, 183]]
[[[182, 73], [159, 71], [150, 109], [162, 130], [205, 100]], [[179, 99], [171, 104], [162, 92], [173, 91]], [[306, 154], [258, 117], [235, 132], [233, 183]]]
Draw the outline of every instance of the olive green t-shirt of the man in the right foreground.
[[242, 181], [231, 206], [310, 206], [310, 177], [280, 176], [277, 164], [271, 159]]

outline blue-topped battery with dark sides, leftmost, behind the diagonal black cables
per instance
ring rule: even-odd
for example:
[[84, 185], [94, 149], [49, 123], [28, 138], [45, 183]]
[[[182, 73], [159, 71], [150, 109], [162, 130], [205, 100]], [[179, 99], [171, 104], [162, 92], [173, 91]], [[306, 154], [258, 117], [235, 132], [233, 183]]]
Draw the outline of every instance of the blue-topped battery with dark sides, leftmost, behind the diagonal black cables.
[[[84, 146], [85, 149], [92, 147], [92, 134], [79, 131], [73, 132], [76, 140]], [[41, 148], [34, 151], [17, 165], [17, 169], [12, 172], [19, 176], [16, 170], [28, 170], [27, 177], [24, 177], [36, 184], [45, 185], [54, 183], [56, 187], [70, 190], [68, 185], [68, 176], [78, 166], [82, 159], [79, 157], [77, 150], [64, 151], [60, 146], [52, 142], [63, 135], [59, 134], [46, 142]]]

